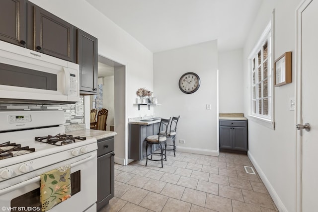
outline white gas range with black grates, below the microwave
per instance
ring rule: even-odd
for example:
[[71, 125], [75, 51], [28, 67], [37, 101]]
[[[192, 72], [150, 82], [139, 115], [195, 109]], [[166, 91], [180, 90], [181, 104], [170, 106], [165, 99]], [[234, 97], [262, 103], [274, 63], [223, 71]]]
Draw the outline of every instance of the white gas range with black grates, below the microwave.
[[96, 211], [97, 141], [68, 135], [64, 123], [63, 111], [0, 112], [2, 211], [41, 211], [39, 176], [67, 164], [72, 196], [50, 212]]

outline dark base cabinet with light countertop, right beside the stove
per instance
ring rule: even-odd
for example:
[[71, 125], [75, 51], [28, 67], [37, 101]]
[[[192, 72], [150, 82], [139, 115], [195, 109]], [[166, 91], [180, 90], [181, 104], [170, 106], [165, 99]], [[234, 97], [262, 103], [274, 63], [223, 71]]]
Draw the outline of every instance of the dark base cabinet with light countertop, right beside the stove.
[[97, 140], [97, 211], [106, 206], [115, 194], [114, 146], [116, 132], [82, 129], [69, 131], [75, 135], [93, 137]]

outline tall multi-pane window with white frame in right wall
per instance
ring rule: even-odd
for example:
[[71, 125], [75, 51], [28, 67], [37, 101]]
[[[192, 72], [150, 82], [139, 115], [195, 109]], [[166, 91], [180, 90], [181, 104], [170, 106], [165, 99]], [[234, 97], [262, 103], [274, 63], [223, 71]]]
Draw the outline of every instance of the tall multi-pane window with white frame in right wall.
[[251, 55], [251, 115], [272, 120], [271, 30], [255, 46]]

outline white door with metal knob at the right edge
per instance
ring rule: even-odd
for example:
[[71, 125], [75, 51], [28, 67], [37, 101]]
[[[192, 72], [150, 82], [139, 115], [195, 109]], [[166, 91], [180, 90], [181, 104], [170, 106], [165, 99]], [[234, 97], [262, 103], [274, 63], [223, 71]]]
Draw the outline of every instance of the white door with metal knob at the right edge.
[[[318, 202], [318, 0], [308, 0], [301, 16], [301, 87], [300, 119], [309, 123], [310, 131], [300, 130], [302, 141], [302, 211], [317, 211]], [[309, 3], [309, 4], [308, 4]], [[301, 155], [301, 154], [300, 154]]]

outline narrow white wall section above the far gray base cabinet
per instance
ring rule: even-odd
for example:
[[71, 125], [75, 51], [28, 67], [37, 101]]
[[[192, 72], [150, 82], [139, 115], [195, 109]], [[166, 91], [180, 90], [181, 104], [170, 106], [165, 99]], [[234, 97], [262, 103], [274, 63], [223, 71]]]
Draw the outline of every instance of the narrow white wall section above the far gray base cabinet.
[[243, 112], [243, 49], [218, 53], [219, 112]]

